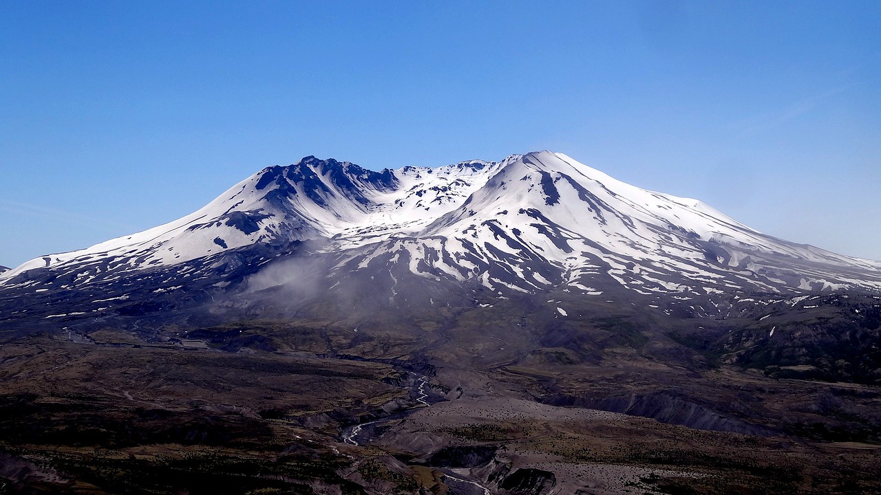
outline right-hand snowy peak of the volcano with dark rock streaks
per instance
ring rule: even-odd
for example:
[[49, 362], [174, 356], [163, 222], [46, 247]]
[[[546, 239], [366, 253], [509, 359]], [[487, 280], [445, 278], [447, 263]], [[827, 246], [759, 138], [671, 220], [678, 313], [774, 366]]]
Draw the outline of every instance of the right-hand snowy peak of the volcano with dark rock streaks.
[[505, 160], [419, 238], [415, 251], [407, 247], [411, 259], [430, 244], [441, 255], [426, 266], [492, 289], [564, 284], [598, 295], [609, 277], [644, 294], [881, 287], [881, 263], [774, 239], [700, 201], [636, 188], [549, 151]]

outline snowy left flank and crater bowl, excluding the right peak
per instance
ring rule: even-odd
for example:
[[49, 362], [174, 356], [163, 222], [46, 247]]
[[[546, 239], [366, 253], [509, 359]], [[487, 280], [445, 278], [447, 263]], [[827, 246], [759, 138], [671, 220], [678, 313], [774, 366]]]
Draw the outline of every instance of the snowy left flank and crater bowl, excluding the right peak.
[[433, 215], [455, 208], [482, 186], [490, 167], [471, 161], [377, 173], [307, 157], [292, 166], [264, 168], [174, 222], [34, 258], [4, 273], [0, 284], [38, 282], [37, 273], [45, 269], [53, 279], [74, 275], [74, 284], [87, 284], [259, 244], [337, 237], [359, 245], [391, 233], [417, 232]]

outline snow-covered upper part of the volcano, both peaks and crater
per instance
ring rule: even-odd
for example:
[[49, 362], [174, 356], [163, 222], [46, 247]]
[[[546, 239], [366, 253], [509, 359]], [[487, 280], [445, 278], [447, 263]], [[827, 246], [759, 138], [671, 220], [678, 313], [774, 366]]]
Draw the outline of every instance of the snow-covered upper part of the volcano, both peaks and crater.
[[881, 262], [775, 239], [550, 151], [381, 172], [315, 157], [270, 166], [174, 222], [6, 271], [0, 289], [100, 287], [154, 272], [170, 283], [243, 263], [250, 274], [295, 248], [322, 260], [327, 287], [369, 271], [392, 277], [392, 297], [401, 275], [496, 293], [625, 289], [679, 300], [881, 291]]

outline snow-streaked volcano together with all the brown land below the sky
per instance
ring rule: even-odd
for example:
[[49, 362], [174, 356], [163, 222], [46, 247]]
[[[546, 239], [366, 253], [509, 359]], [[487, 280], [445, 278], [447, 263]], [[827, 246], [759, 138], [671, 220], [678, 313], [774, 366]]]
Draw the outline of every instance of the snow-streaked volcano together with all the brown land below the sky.
[[566, 155], [307, 157], [0, 273], [0, 483], [877, 492], [879, 349], [881, 263]]

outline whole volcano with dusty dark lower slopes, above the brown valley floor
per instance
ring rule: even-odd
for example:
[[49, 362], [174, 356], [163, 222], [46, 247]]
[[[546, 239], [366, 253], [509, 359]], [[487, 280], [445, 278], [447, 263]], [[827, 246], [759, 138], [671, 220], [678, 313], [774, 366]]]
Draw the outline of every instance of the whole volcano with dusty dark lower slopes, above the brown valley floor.
[[0, 273], [14, 309], [0, 322], [370, 314], [551, 292], [729, 317], [840, 290], [881, 291], [881, 262], [776, 239], [562, 153], [381, 172], [310, 156], [174, 222]]

